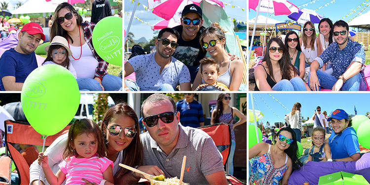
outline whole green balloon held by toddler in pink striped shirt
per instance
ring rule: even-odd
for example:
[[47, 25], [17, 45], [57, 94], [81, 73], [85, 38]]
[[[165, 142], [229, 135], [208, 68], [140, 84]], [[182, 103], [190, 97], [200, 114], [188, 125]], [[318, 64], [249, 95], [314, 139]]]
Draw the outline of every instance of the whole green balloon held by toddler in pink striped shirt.
[[32, 71], [23, 84], [21, 102], [31, 126], [41, 135], [54, 135], [71, 122], [80, 94], [73, 74], [47, 64]]

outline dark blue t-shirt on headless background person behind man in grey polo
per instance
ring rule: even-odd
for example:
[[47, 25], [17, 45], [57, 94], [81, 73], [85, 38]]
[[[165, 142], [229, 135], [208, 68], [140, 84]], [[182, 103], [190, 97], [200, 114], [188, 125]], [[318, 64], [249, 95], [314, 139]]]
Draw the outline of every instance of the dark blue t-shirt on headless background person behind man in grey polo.
[[204, 122], [202, 104], [193, 100], [188, 103], [185, 99], [176, 102], [177, 111], [180, 112], [180, 123], [183, 126], [199, 127]]

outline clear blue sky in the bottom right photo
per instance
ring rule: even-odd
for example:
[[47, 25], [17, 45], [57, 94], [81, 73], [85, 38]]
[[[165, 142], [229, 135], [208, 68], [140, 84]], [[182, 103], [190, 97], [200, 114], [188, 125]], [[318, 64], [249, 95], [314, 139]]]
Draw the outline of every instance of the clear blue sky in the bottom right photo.
[[[326, 111], [328, 116], [335, 109], [343, 109], [348, 114], [355, 114], [354, 105], [356, 105], [357, 115], [365, 115], [370, 112], [369, 93], [252, 93], [255, 101], [255, 110], [264, 114], [262, 122], [265, 124], [283, 122], [284, 116], [290, 111], [296, 102], [299, 102], [301, 114], [304, 118], [312, 117], [317, 106], [321, 111]], [[252, 109], [250, 93], [248, 94], [249, 109]], [[272, 97], [274, 98], [272, 98]], [[263, 99], [263, 100], [262, 100]], [[276, 100], [275, 100], [276, 99]], [[279, 103], [280, 102], [280, 103]], [[268, 106], [270, 108], [268, 108]], [[284, 105], [284, 106], [283, 106]], [[286, 108], [285, 108], [286, 107]], [[289, 110], [287, 110], [289, 109]]]

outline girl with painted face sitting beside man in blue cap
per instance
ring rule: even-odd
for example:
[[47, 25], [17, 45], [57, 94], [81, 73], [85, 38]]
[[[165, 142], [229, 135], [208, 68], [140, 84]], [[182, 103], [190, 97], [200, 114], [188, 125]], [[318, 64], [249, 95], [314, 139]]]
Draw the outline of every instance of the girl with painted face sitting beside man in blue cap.
[[330, 146], [328, 143], [325, 142], [325, 129], [321, 126], [315, 127], [312, 130], [312, 147], [310, 148], [310, 152], [308, 154], [308, 161], [322, 161], [321, 157], [326, 157], [328, 161], [333, 161], [332, 155], [330, 152]]

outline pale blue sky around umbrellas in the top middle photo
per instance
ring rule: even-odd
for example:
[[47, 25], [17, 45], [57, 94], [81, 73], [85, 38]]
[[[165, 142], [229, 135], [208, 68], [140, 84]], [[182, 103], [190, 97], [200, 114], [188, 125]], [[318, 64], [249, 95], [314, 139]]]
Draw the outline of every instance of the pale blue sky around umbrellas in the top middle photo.
[[[131, 3], [132, 0], [124, 0], [124, 9], [125, 12], [132, 13], [134, 4]], [[227, 16], [235, 18], [237, 20], [241, 21], [247, 21], [247, 13], [248, 13], [248, 7], [247, 7], [247, 0], [222, 0], [224, 3], [230, 3], [232, 5], [238, 5], [241, 8], [245, 8], [243, 11], [241, 8], [235, 7], [232, 8], [230, 5], [225, 6], [225, 11]], [[146, 6], [148, 6], [148, 0], [139, 0], [139, 3], [142, 3]], [[157, 15], [153, 14], [151, 10], [147, 11], [144, 9], [144, 7], [140, 4], [136, 8], [135, 16], [139, 17], [141, 20], [150, 23], [150, 25], [154, 25], [160, 20], [163, 20], [162, 18], [158, 17]], [[128, 23], [130, 21], [130, 16], [127, 16], [127, 14], [124, 14], [124, 28], [127, 30]], [[130, 32], [134, 33], [134, 39], [139, 39], [141, 37], [145, 37], [148, 41], [153, 38], [153, 32], [149, 25], [143, 24], [141, 21], [137, 19], [133, 19]]]

